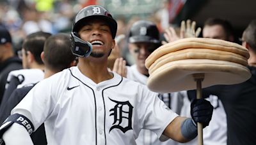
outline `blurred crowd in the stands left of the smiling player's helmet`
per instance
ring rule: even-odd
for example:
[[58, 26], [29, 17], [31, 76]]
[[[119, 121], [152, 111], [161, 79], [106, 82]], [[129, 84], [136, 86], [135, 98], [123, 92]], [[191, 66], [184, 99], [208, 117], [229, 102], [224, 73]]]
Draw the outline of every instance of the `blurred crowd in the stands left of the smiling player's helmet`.
[[77, 11], [95, 1], [8, 0], [0, 3], [0, 24], [10, 31], [17, 52], [22, 40], [33, 32], [70, 32]]

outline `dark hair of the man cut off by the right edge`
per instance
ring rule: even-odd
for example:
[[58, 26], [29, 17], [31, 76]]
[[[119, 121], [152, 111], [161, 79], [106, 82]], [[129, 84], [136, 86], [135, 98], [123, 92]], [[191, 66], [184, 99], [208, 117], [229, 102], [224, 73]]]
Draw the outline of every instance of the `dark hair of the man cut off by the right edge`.
[[252, 20], [246, 27], [243, 39], [256, 52], [256, 20]]

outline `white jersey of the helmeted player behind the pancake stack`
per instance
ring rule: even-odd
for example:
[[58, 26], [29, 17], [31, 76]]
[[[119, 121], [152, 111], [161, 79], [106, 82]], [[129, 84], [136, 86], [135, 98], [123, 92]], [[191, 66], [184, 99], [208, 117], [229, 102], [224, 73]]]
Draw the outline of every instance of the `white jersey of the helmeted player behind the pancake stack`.
[[[137, 81], [141, 84], [146, 85], [148, 77], [141, 74], [136, 68], [136, 65], [132, 65], [132, 66], [127, 66], [127, 79], [132, 79], [134, 81]], [[175, 93], [159, 93], [158, 96], [161, 100], [163, 100], [166, 106], [172, 109], [172, 111], [178, 114], [180, 113], [180, 109], [183, 105], [182, 103], [183, 95], [180, 95], [179, 92], [175, 92]], [[168, 141], [164, 141], [164, 142], [159, 141], [156, 133], [150, 130], [141, 130], [138, 139], [136, 139], [136, 143], [137, 144], [153, 144], [153, 145], [177, 144], [177, 142], [173, 141], [172, 139], [169, 139]]]

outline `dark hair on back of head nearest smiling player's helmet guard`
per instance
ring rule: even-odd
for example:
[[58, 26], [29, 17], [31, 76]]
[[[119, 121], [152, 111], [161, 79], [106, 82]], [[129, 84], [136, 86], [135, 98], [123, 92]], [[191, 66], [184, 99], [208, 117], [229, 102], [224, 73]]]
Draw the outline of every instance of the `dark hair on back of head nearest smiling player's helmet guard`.
[[71, 41], [68, 34], [60, 33], [49, 37], [44, 46], [45, 67], [59, 72], [70, 67], [76, 59], [70, 50]]

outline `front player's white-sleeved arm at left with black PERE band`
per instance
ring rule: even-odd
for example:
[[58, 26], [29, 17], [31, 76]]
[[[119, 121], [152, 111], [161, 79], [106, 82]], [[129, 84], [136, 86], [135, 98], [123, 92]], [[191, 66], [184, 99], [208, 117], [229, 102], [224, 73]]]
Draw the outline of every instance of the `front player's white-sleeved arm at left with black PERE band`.
[[[51, 94], [55, 94], [51, 92], [53, 90], [51, 87], [54, 86], [49, 83], [51, 81], [51, 79], [44, 79], [37, 83], [26, 97], [12, 109], [12, 115], [0, 127], [0, 140], [4, 137], [0, 141], [1, 143], [6, 142], [6, 144], [12, 145], [16, 143], [29, 144], [31, 142], [29, 135], [44, 123], [45, 118], [52, 112], [54, 105], [51, 106], [51, 104], [55, 104], [51, 97]], [[49, 91], [45, 92], [44, 90]], [[20, 140], [15, 138], [16, 141], [12, 141], [12, 137], [19, 136], [17, 133], [24, 137], [20, 137]], [[20, 143], [27, 141], [28, 143]], [[2, 145], [1, 143], [0, 145]]]

